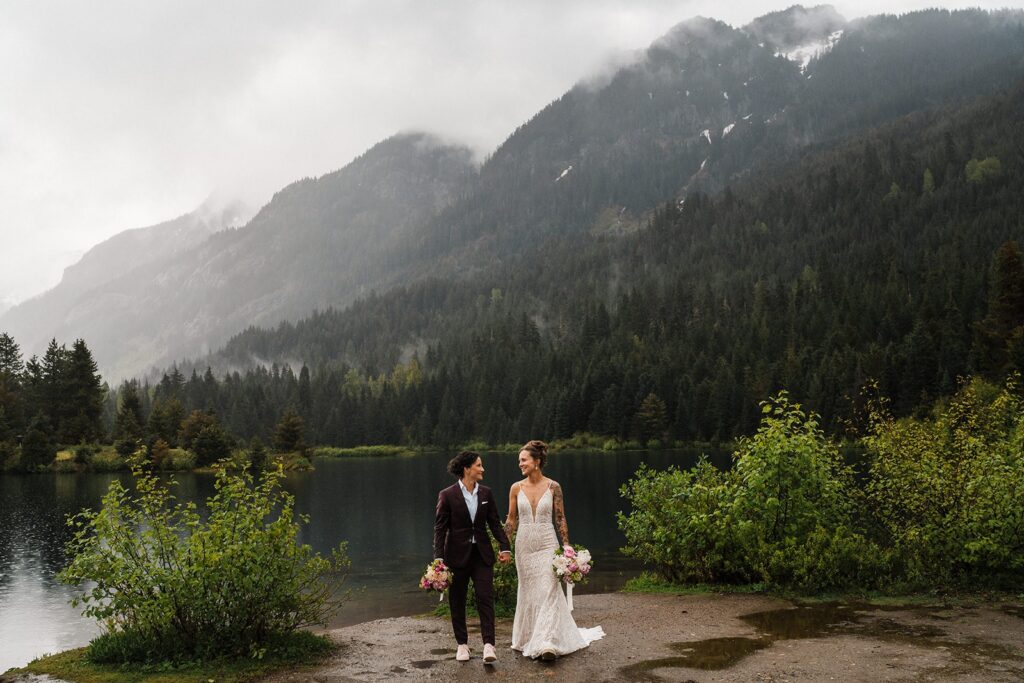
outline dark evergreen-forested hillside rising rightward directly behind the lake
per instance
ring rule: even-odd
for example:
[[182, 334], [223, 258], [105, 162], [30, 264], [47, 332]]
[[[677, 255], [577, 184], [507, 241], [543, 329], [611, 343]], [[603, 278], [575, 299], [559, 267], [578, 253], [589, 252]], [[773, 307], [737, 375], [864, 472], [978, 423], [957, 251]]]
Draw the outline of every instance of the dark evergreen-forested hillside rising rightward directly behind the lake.
[[295, 407], [315, 442], [443, 444], [728, 438], [786, 388], [840, 431], [868, 380], [906, 414], [1024, 365], [1022, 180], [1018, 84], [690, 195], [635, 233], [249, 330], [218, 375], [294, 369], [169, 376], [156, 395], [239, 435]]

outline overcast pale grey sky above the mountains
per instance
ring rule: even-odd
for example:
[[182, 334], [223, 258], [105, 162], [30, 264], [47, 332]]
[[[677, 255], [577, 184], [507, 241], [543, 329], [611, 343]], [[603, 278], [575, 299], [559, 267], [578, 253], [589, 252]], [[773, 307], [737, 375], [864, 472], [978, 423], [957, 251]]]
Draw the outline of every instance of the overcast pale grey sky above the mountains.
[[[833, 4], [853, 18], [1022, 2]], [[211, 194], [258, 206], [402, 130], [486, 153], [683, 19], [740, 26], [790, 4], [2, 0], [0, 309]]]

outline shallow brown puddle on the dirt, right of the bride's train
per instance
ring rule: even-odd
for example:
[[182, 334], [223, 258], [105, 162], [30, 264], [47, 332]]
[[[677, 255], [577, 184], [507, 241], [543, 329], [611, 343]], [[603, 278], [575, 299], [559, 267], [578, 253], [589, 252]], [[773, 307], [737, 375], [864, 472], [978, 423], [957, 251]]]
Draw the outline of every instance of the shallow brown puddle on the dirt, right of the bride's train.
[[[646, 659], [624, 667], [620, 671], [630, 681], [659, 681], [662, 679], [654, 673], [658, 669], [706, 671], [727, 669], [743, 657], [770, 647], [775, 641], [827, 638], [834, 635], [866, 636], [877, 640], [918, 646], [926, 644], [948, 650], [958, 661], [982, 667], [992, 659], [1024, 661], [1024, 657], [1016, 651], [1000, 645], [978, 640], [967, 643], [940, 640], [946, 632], [936, 626], [904, 624], [893, 618], [877, 616], [880, 611], [897, 610], [914, 611], [922, 616], [930, 615], [922, 613], [920, 608], [914, 607], [880, 608], [874, 605], [835, 602], [770, 609], [739, 617], [759, 632], [757, 636], [671, 643], [669, 647], [679, 653], [677, 656]], [[1024, 617], [1024, 610], [1017, 615]]]

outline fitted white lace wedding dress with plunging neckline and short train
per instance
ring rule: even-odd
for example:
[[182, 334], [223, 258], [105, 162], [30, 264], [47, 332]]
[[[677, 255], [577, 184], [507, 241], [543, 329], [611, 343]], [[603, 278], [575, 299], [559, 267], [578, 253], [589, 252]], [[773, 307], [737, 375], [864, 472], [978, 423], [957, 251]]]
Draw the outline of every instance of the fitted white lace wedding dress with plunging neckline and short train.
[[568, 654], [604, 636], [601, 627], [578, 628], [551, 560], [558, 548], [552, 523], [553, 495], [548, 487], [537, 511], [521, 490], [516, 499], [519, 514], [515, 539], [515, 567], [519, 574], [512, 649], [538, 657], [545, 651]]

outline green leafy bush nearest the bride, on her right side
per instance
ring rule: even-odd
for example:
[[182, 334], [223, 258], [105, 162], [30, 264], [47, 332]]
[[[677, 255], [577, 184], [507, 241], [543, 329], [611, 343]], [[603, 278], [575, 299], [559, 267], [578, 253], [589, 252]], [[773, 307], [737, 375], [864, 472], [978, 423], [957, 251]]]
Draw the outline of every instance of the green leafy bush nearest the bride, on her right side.
[[784, 392], [763, 404], [729, 472], [642, 466], [622, 488], [625, 553], [672, 583], [761, 582], [808, 590], [877, 582], [886, 560], [854, 529], [858, 496], [817, 417]]

